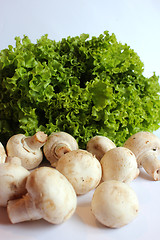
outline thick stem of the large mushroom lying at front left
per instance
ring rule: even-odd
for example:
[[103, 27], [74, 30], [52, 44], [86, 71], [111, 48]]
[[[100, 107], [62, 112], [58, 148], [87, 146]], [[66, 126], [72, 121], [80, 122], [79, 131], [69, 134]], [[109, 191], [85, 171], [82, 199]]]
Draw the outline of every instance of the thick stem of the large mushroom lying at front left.
[[11, 223], [42, 218], [29, 194], [24, 195], [23, 198], [8, 201], [7, 212]]

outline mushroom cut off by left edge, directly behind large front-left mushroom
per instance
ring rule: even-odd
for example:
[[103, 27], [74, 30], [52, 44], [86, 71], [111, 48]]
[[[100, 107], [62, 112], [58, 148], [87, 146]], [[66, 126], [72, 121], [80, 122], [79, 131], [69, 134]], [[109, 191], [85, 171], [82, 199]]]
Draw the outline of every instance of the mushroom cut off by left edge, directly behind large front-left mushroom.
[[[0, 164], [0, 206], [6, 207], [8, 200], [16, 199], [26, 193], [26, 179], [30, 172], [16, 162]], [[14, 158], [15, 160], [15, 158]]]

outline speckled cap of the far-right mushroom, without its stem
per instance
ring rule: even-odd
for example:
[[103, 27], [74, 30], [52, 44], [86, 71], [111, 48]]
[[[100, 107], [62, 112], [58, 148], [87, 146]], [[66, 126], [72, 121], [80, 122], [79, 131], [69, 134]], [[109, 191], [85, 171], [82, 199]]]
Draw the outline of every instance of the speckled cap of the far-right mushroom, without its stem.
[[138, 161], [139, 156], [148, 150], [160, 154], [160, 138], [150, 132], [138, 132], [127, 139], [124, 147], [130, 149]]

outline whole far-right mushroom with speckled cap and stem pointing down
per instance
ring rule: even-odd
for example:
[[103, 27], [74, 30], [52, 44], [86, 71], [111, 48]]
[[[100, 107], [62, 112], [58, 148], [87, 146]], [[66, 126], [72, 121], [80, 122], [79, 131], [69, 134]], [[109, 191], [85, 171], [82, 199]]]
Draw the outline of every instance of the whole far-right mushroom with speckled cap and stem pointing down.
[[124, 147], [135, 154], [138, 167], [143, 167], [155, 181], [160, 180], [160, 138], [150, 132], [138, 132], [127, 139]]

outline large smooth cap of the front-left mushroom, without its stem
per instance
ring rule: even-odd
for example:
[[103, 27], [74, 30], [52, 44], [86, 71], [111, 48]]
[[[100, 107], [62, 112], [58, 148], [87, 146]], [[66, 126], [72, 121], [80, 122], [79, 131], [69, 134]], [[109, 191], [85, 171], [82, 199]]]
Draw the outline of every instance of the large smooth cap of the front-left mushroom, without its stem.
[[37, 211], [46, 221], [59, 224], [70, 218], [77, 196], [68, 180], [56, 169], [40, 167], [27, 178], [26, 188]]

